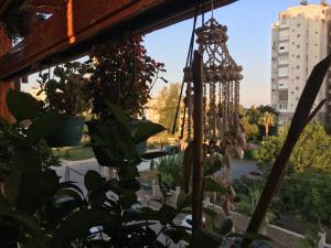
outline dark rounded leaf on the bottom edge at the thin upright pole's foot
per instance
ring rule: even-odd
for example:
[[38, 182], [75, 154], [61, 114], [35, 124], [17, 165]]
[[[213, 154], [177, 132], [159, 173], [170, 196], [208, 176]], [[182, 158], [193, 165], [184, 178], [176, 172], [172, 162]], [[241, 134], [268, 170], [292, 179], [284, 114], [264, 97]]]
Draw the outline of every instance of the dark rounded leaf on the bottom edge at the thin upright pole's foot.
[[223, 237], [209, 230], [197, 230], [192, 238], [190, 248], [201, 248], [207, 245], [209, 248], [218, 248]]

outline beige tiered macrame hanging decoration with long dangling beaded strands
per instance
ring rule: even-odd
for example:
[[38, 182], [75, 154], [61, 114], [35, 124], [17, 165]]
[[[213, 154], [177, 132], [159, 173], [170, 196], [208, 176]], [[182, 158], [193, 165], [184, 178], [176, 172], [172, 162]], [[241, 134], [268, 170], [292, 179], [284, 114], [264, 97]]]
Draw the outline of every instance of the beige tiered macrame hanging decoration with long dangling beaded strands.
[[[228, 53], [227, 28], [212, 18], [195, 30], [199, 52], [203, 54], [203, 109], [205, 148], [222, 154], [223, 184], [231, 187], [231, 158], [243, 158], [246, 147], [245, 134], [239, 125], [239, 82], [243, 67], [237, 65]], [[186, 130], [188, 142], [192, 141], [193, 130], [193, 72], [184, 68], [186, 83], [186, 117], [183, 118], [182, 132]], [[205, 153], [207, 153], [205, 151]], [[234, 192], [223, 196], [223, 208], [232, 208]], [[226, 206], [225, 206], [226, 205]]]

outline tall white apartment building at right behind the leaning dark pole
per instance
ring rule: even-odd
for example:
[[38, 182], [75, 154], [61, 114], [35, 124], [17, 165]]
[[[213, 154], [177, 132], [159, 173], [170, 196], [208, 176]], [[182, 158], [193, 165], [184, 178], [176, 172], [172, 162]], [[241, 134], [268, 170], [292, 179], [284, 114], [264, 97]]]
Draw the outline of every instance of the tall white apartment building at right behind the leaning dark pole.
[[[273, 25], [271, 106], [279, 115], [279, 126], [290, 122], [299, 97], [313, 66], [331, 53], [331, 6], [292, 7], [279, 14]], [[318, 119], [331, 120], [331, 72], [314, 106], [327, 98]]]

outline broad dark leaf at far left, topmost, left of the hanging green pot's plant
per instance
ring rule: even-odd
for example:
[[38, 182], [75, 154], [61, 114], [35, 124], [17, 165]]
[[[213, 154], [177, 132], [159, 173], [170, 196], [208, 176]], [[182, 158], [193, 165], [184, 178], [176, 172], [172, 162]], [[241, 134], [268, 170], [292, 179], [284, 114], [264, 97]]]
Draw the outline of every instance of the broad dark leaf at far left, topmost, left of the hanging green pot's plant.
[[30, 94], [13, 89], [8, 91], [6, 101], [17, 121], [33, 119], [42, 109], [42, 104]]

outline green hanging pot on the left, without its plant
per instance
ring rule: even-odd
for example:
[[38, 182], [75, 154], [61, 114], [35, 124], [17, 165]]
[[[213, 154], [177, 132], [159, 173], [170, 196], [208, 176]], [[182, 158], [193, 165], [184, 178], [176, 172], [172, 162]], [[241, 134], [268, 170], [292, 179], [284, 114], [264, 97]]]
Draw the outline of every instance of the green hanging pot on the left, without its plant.
[[81, 144], [83, 138], [85, 119], [63, 115], [61, 126], [46, 137], [51, 148], [75, 147]]

